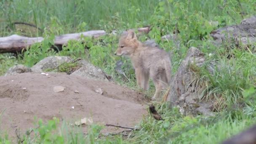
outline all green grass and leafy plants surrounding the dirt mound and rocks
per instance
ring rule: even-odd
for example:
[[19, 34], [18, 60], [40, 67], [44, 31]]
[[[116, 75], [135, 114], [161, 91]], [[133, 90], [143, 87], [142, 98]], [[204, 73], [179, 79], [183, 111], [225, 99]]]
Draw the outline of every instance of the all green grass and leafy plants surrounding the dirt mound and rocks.
[[[241, 4], [241, 6], [240, 6]], [[70, 56], [83, 58], [114, 77], [120, 85], [141, 91], [137, 88], [131, 61], [117, 57], [118, 35], [104, 35], [98, 39], [84, 37], [84, 43], [70, 40], [62, 51], [50, 49], [54, 35], [81, 32], [93, 29], [117, 30], [142, 27], [152, 24], [148, 35], [140, 40], [155, 39], [165, 51], [172, 52], [173, 74], [179, 67], [190, 46], [195, 46], [206, 55], [204, 67], [191, 66], [194, 72], [192, 83], [200, 85], [202, 99], [212, 100], [216, 115], [212, 117], [197, 115], [184, 116], [177, 108], [170, 109], [168, 103], [154, 103], [157, 111], [165, 119], [156, 121], [145, 115], [139, 127], [128, 138], [121, 136], [102, 136], [100, 125], [91, 125], [88, 135], [79, 133], [79, 128], [70, 129], [65, 123], [56, 127], [58, 120], [47, 123], [37, 121], [34, 132], [37, 137], [21, 136], [26, 143], [219, 143], [239, 133], [255, 123], [256, 115], [256, 56], [253, 46], [248, 49], [236, 48], [232, 43], [216, 46], [211, 43], [210, 32], [219, 27], [239, 24], [248, 16], [256, 14], [255, 0], [2, 0], [0, 2], [0, 36], [19, 34], [23, 36], [42, 36], [45, 40], [35, 43], [28, 51], [19, 54], [0, 54], [0, 75], [15, 64], [32, 67], [47, 56]], [[240, 13], [247, 13], [241, 15]], [[35, 24], [44, 32], [26, 25], [12, 25], [15, 21]], [[218, 21], [210, 25], [209, 21]], [[177, 25], [176, 25], [177, 24]], [[161, 40], [178, 28], [177, 39]], [[40, 48], [40, 51], [38, 50]], [[85, 49], [88, 48], [88, 49]], [[208, 56], [212, 53], [211, 56]], [[232, 57], [230, 57], [232, 56]], [[124, 75], [115, 72], [115, 62], [122, 60]], [[205, 68], [215, 61], [218, 69], [209, 73]], [[50, 71], [71, 72], [77, 63], [67, 63]], [[145, 96], [151, 97], [155, 91], [152, 81]], [[241, 105], [242, 104], [242, 105]], [[40, 128], [36, 128], [40, 125]], [[67, 133], [67, 129], [69, 133]], [[49, 133], [54, 133], [50, 135]], [[0, 143], [11, 143], [8, 133], [2, 130]]]

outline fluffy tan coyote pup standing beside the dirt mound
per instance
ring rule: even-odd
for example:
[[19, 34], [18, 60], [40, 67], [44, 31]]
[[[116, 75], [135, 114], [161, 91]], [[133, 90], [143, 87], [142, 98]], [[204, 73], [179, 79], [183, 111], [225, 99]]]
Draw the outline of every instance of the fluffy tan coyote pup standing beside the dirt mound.
[[159, 98], [162, 88], [169, 86], [171, 81], [170, 56], [163, 49], [142, 44], [132, 30], [121, 36], [115, 55], [126, 55], [131, 58], [139, 88], [147, 90], [149, 76], [152, 78], [155, 85], [153, 100]]

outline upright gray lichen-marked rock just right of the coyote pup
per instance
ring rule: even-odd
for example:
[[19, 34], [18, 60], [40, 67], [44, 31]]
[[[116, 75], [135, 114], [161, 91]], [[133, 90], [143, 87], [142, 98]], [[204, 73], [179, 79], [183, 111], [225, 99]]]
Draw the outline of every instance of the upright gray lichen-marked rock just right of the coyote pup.
[[201, 101], [201, 93], [198, 91], [197, 85], [191, 83], [193, 72], [189, 65], [195, 64], [195, 66], [201, 67], [204, 61], [204, 53], [195, 47], [189, 48], [187, 55], [172, 78], [167, 101], [171, 102], [171, 107], [178, 107], [183, 115], [213, 115], [211, 104]]

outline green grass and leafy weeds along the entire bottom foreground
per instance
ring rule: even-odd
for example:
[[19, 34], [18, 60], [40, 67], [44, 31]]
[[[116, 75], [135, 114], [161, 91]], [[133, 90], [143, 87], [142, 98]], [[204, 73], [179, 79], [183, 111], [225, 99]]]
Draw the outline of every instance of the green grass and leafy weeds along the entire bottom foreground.
[[[183, 116], [177, 108], [169, 109], [168, 103], [157, 104], [156, 109], [165, 119], [157, 121], [150, 115], [145, 115], [137, 125], [138, 131], [133, 131], [128, 137], [104, 136], [100, 130], [103, 125], [89, 125], [88, 133], [82, 133], [81, 127], [72, 127], [58, 118], [43, 122], [38, 119], [35, 126], [28, 129], [28, 133], [37, 133], [31, 138], [29, 135], [20, 136], [19, 141], [25, 143], [95, 143], [95, 144], [148, 144], [148, 143], [173, 143], [173, 144], [208, 144], [219, 143], [245, 128], [253, 125], [256, 120], [252, 115], [244, 114], [240, 110], [220, 112], [214, 117]], [[36, 119], [35, 119], [36, 120]], [[58, 128], [58, 125], [60, 127]], [[0, 135], [0, 141], [10, 141], [8, 135]]]

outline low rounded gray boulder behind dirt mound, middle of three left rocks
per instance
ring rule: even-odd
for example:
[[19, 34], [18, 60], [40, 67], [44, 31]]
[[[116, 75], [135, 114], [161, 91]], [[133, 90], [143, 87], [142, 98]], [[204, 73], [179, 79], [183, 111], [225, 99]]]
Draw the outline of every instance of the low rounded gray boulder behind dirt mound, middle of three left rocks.
[[33, 72], [43, 72], [45, 69], [51, 69], [71, 61], [72, 59], [68, 56], [48, 56], [31, 67], [31, 69]]

